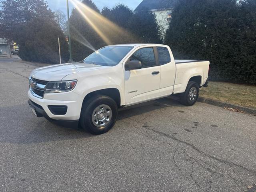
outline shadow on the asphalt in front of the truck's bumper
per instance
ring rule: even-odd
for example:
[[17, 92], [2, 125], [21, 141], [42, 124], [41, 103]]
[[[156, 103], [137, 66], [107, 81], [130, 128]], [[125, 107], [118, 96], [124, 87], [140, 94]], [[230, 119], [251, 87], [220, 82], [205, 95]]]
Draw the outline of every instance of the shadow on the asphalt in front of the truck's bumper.
[[28, 144], [93, 136], [82, 130], [63, 128], [52, 124], [43, 117], [36, 117], [27, 103], [0, 108], [0, 110], [0, 142]]

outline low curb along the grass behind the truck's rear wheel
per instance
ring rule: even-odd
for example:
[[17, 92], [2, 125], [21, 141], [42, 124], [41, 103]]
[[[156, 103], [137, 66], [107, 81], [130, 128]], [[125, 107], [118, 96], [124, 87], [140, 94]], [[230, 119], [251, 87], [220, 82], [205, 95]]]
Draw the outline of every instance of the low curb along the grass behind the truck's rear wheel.
[[256, 115], [256, 109], [253, 109], [253, 108], [246, 108], [246, 107], [242, 107], [242, 106], [239, 106], [239, 105], [234, 105], [234, 104], [230, 104], [230, 103], [220, 102], [220, 101], [216, 101], [216, 100], [212, 100], [212, 99], [207, 99], [207, 98], [203, 98], [203, 97], [198, 97], [197, 101], [201, 102], [201, 103], [207, 103], [207, 104], [210, 104], [210, 105], [219, 106], [219, 107], [238, 109], [240, 111]]

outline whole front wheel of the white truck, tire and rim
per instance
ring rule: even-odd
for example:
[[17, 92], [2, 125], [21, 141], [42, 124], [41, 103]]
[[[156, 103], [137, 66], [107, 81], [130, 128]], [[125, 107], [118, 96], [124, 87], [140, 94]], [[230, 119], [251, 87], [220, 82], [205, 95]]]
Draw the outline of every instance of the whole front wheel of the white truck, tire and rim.
[[115, 124], [118, 108], [108, 96], [96, 96], [84, 102], [80, 115], [82, 128], [92, 134], [108, 132]]

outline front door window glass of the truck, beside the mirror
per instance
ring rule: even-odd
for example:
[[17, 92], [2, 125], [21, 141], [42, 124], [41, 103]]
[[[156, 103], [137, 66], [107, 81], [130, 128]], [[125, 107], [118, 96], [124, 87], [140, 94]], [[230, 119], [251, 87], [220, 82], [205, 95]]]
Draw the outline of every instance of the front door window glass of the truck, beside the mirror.
[[141, 48], [136, 51], [131, 57], [130, 61], [138, 60], [142, 67], [156, 66], [154, 51], [152, 47]]

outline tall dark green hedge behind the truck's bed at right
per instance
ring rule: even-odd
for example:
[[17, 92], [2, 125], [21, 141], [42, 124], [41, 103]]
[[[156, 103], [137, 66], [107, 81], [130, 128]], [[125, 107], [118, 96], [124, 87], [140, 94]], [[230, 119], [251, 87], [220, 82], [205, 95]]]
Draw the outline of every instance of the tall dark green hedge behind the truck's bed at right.
[[180, 0], [166, 32], [175, 58], [210, 60], [210, 79], [256, 84], [256, 1]]

